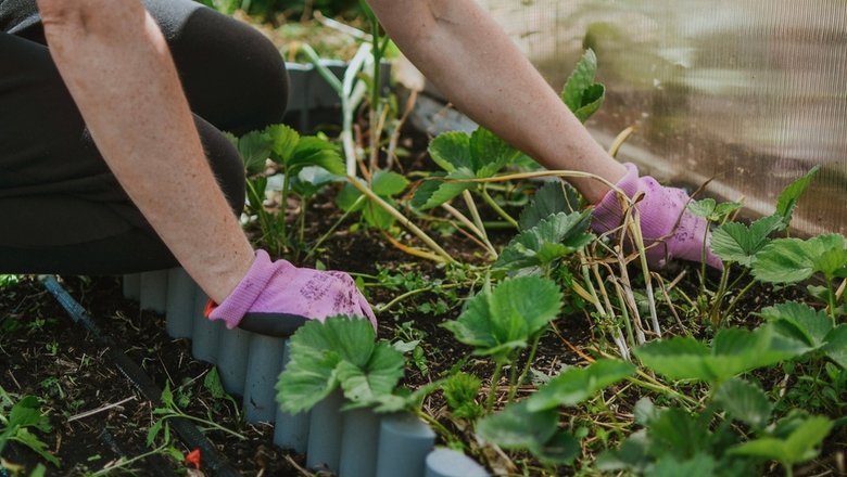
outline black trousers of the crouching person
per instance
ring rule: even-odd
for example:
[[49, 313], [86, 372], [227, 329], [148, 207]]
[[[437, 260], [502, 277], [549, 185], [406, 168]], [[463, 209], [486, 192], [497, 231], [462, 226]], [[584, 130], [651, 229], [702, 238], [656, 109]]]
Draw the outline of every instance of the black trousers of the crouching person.
[[[281, 121], [285, 63], [254, 28], [199, 3], [144, 4], [168, 41], [210, 165], [240, 214], [243, 165], [222, 131]], [[92, 143], [45, 44], [35, 0], [0, 0], [0, 273], [175, 266]]]

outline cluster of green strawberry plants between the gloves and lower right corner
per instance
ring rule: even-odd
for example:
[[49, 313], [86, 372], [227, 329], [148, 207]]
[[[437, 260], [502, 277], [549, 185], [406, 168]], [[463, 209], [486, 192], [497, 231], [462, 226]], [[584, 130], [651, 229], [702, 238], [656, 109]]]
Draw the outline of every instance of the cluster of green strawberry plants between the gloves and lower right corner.
[[[603, 102], [595, 68], [589, 51], [562, 90], [562, 101], [582, 120]], [[630, 132], [621, 133], [612, 154]], [[526, 156], [482, 128], [442, 133], [429, 153], [442, 171], [428, 175], [403, 199], [412, 183], [380, 170], [372, 176], [371, 194], [361, 192], [368, 184], [362, 181], [349, 184], [338, 202], [381, 230], [395, 219], [407, 227], [400, 207], [419, 221], [433, 217], [427, 210], [441, 208], [456, 230], [480, 245], [488, 257], [481, 268], [458, 263], [440, 248], [416, 255], [448, 268], [476, 267], [465, 275], [476, 279], [464, 285], [477, 293], [443, 326], [470, 347], [471, 356], [489, 360], [491, 373], [471, 374], [463, 361], [430, 385], [397, 388], [406, 366], [403, 352], [421, 349], [419, 340], [375, 345], [366, 322], [330, 319], [307, 324], [292, 338], [292, 361], [278, 386], [283, 409], [304, 411], [340, 388], [347, 408], [418, 413], [445, 442], [495, 472], [551, 475], [585, 452], [599, 454], [579, 463], [587, 472], [736, 476], [761, 474], [778, 462], [791, 475], [797, 464], [816, 457], [830, 433], [843, 430], [847, 243], [838, 234], [785, 236], [817, 168], [783, 191], [772, 216], [749, 224], [735, 220], [742, 204], [690, 204], [692, 212], [716, 225], [711, 249], [724, 263], [717, 284], [700, 270], [696, 295], [690, 296], [647, 269], [631, 215], [620, 229], [627, 233], [598, 237], [591, 232], [590, 208], [555, 179], [578, 172], [527, 169]], [[491, 193], [538, 178], [547, 179], [517, 219]], [[464, 210], [451, 204], [458, 198]], [[491, 221], [483, 220], [477, 198], [515, 231], [505, 247], [491, 241]], [[634, 247], [623, 246], [625, 235]], [[800, 282], [809, 283], [809, 304], [737, 311], [757, 286]], [[543, 375], [533, 369], [539, 343], [556, 332], [555, 321], [565, 311], [590, 317], [601, 340], [582, 352], [586, 365]], [[666, 336], [662, 327], [671, 315], [670, 327], [682, 336]], [[399, 336], [408, 336], [405, 327]], [[423, 410], [435, 395], [444, 399], [446, 416]], [[621, 417], [621, 409], [631, 409], [633, 417]], [[602, 418], [608, 422], [598, 425], [595, 420]]]

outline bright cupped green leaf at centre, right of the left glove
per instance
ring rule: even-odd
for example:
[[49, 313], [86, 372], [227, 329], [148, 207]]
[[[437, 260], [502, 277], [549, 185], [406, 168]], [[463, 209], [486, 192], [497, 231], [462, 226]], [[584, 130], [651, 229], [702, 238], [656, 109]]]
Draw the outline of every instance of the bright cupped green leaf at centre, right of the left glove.
[[521, 276], [477, 294], [465, 312], [444, 327], [460, 343], [476, 347], [476, 354], [503, 357], [526, 347], [560, 309], [561, 292], [553, 281]]

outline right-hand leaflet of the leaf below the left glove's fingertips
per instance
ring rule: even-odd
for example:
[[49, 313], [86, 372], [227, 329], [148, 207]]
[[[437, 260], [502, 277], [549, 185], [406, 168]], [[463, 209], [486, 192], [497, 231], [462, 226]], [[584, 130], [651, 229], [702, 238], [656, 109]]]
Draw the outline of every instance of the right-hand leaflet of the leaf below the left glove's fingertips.
[[337, 377], [345, 398], [361, 405], [370, 405], [379, 396], [390, 395], [394, 390], [403, 377], [405, 364], [403, 353], [383, 341], [374, 349], [365, 366], [359, 368], [349, 361], [340, 362]]

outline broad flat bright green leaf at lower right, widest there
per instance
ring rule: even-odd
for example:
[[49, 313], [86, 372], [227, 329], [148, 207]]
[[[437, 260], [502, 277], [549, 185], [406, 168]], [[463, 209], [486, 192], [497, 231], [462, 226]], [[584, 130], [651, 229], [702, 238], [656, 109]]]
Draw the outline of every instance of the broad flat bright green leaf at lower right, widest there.
[[720, 383], [744, 372], [775, 364], [808, 351], [800, 341], [776, 334], [772, 326], [753, 332], [723, 328], [712, 348], [690, 337], [652, 341], [635, 354], [644, 365], [671, 379]]

